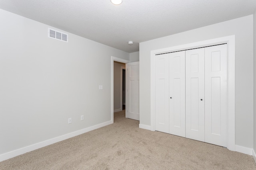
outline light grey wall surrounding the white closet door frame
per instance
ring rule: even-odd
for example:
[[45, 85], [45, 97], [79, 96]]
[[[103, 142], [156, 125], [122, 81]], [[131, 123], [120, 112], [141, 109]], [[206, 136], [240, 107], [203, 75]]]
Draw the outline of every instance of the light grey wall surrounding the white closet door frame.
[[236, 37], [236, 145], [253, 148], [253, 16], [140, 43], [140, 124], [150, 125], [150, 51], [218, 37]]

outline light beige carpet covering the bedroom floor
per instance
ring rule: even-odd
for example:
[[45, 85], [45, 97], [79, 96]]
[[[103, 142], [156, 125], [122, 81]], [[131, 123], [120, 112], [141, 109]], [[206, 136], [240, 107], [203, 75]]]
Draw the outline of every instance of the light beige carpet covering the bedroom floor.
[[161, 132], [114, 113], [114, 123], [0, 162], [1, 170], [256, 170], [252, 156]]

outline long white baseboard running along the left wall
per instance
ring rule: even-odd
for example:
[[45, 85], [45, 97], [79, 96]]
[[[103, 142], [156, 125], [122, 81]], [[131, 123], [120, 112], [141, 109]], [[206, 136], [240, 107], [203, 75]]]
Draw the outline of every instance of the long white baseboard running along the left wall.
[[111, 121], [106, 121], [106, 122], [100, 123], [98, 125], [87, 127], [85, 129], [81, 129], [81, 130], [78, 130], [78, 131], [74, 131], [72, 133], [68, 133], [66, 135], [55, 137], [55, 138], [52, 138], [52, 139], [49, 139], [49, 140], [46, 140], [46, 141], [35, 143], [33, 145], [30, 145], [30, 146], [27, 146], [27, 147], [24, 147], [24, 148], [20, 148], [20, 149], [17, 149], [17, 150], [13, 150], [13, 151], [1, 154], [0, 155], [0, 162], [3, 161], [3, 160], [7, 160], [7, 159], [13, 158], [15, 156], [24, 154], [26, 152], [30, 152], [32, 150], [36, 150], [36, 149], [39, 149], [39, 148], [42, 148], [42, 147], [46, 147], [48, 145], [63, 141], [65, 139], [68, 139], [68, 138], [71, 138], [71, 137], [74, 137], [74, 136], [77, 136], [77, 135], [81, 135], [83, 133], [86, 133], [86, 132], [89, 132], [89, 131], [92, 131], [94, 129], [98, 129], [100, 127], [104, 127], [104, 126], [110, 125], [110, 124], [111, 124]]

